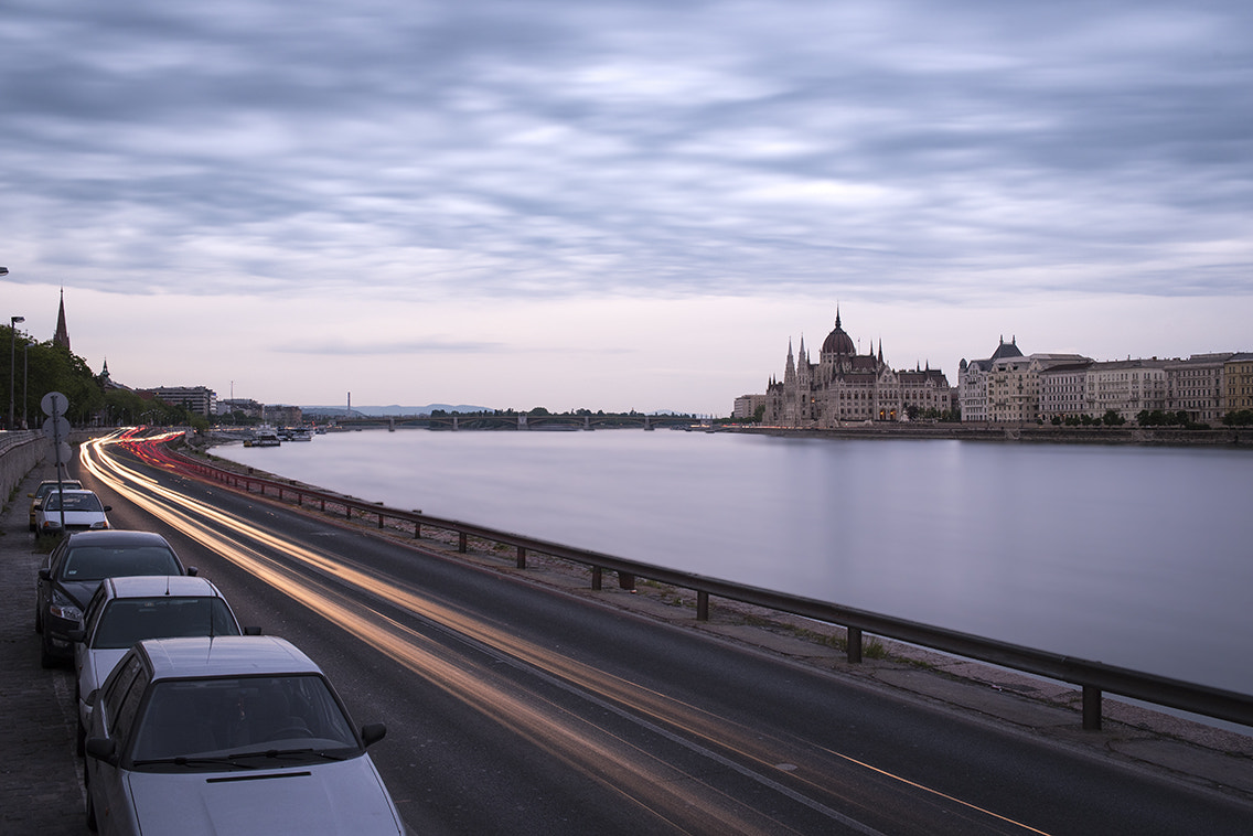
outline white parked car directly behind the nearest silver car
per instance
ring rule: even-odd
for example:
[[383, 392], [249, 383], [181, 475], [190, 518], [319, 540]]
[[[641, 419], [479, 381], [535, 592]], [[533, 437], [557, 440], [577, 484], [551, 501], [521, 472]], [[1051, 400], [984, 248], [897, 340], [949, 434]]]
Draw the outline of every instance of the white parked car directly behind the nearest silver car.
[[[249, 628], [254, 635], [259, 629]], [[78, 752], [83, 753], [99, 688], [135, 642], [185, 635], [239, 635], [239, 622], [218, 588], [204, 578], [134, 575], [100, 582], [83, 614], [83, 629], [70, 630], [78, 673]]]

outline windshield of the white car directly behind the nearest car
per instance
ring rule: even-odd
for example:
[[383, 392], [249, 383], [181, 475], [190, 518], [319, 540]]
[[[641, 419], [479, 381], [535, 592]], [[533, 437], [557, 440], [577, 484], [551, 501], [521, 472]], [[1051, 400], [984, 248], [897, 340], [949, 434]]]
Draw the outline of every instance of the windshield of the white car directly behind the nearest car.
[[221, 598], [117, 598], [100, 615], [91, 647], [120, 651], [144, 639], [238, 634]]

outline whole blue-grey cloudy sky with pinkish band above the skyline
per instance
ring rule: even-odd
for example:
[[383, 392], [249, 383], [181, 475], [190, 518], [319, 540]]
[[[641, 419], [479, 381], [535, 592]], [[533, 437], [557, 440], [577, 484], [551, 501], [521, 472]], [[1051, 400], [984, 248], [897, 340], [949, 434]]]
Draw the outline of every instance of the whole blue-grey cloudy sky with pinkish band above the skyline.
[[1253, 4], [6, 0], [0, 317], [130, 386], [725, 415], [1253, 350]]

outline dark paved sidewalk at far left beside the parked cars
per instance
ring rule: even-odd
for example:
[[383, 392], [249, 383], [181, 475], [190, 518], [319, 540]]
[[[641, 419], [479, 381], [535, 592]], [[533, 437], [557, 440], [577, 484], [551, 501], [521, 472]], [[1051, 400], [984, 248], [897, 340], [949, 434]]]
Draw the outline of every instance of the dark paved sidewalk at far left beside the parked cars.
[[85, 833], [80, 762], [74, 755], [74, 679], [69, 666], [39, 666], [35, 575], [26, 494], [51, 466], [36, 466], [0, 513], [0, 832]]

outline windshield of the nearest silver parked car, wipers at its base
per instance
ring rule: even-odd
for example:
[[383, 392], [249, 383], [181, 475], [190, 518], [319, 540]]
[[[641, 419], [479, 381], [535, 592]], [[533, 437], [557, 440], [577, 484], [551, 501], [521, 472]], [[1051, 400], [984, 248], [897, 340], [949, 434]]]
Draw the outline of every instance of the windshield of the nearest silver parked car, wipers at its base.
[[348, 718], [316, 674], [158, 682], [135, 728], [137, 766], [357, 748]]

